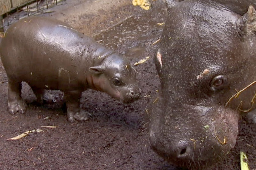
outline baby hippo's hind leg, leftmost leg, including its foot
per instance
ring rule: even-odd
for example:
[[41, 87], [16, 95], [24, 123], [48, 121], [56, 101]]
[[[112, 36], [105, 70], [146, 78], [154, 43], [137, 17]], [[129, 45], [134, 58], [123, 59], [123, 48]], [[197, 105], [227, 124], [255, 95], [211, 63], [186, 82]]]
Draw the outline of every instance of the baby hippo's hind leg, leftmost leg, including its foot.
[[11, 114], [25, 113], [26, 103], [21, 98], [21, 82], [8, 81], [8, 112]]

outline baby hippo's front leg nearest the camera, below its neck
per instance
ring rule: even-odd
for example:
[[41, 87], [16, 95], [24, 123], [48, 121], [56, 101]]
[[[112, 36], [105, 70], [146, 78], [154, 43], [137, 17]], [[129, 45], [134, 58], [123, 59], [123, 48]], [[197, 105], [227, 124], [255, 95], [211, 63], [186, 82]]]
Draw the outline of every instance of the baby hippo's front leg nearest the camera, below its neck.
[[81, 91], [64, 92], [64, 101], [67, 105], [68, 120], [70, 122], [85, 121], [88, 119], [87, 112], [80, 109]]

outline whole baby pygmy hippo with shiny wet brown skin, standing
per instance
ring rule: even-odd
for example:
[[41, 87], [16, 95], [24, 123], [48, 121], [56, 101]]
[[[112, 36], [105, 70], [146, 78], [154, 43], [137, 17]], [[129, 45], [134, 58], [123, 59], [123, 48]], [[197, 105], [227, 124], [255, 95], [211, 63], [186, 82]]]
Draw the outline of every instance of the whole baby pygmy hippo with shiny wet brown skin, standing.
[[[79, 108], [88, 88], [130, 103], [140, 96], [136, 71], [121, 55], [75, 31], [68, 24], [27, 17], [5, 32], [0, 55], [8, 76], [8, 111], [26, 110], [21, 82], [27, 82], [42, 103], [45, 89], [64, 92], [68, 120], [87, 120]], [[96, 99], [97, 100], [97, 99]]]

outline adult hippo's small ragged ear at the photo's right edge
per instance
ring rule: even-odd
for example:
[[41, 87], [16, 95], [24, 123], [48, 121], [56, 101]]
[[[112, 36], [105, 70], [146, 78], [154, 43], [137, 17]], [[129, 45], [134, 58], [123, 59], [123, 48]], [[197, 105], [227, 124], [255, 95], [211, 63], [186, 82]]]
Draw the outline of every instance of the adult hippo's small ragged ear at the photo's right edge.
[[250, 5], [248, 11], [238, 19], [237, 30], [242, 38], [246, 35], [256, 36], [256, 11], [252, 5]]

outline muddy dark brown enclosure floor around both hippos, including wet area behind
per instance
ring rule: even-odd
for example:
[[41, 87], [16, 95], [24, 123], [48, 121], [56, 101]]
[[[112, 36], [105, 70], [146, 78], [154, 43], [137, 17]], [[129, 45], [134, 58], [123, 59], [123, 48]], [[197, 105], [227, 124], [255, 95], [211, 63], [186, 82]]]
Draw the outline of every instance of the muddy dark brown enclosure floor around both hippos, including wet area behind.
[[[86, 91], [81, 107], [91, 113], [90, 119], [72, 124], [61, 109], [62, 93], [51, 92], [56, 95], [56, 103], [38, 106], [34, 104], [30, 87], [24, 83], [22, 97], [28, 103], [27, 111], [10, 115], [7, 112], [8, 81], [0, 63], [0, 169], [179, 169], [153, 152], [146, 132], [145, 109], [156, 98], [159, 87], [153, 63], [157, 45], [152, 43], [160, 38], [163, 29], [157, 23], [164, 22], [167, 15], [162, 1], [152, 1], [152, 5], [146, 11], [132, 6], [132, 0], [66, 0], [51, 8], [51, 13], [40, 14], [67, 22], [125, 55], [131, 63], [149, 56], [145, 63], [135, 66], [142, 97], [124, 105], [105, 93]], [[22, 15], [24, 11], [20, 12]], [[241, 119], [237, 145], [211, 169], [239, 170], [239, 154], [244, 151], [251, 170], [256, 170], [255, 127]], [[43, 132], [30, 133], [17, 141], [7, 140], [34, 129]]]

